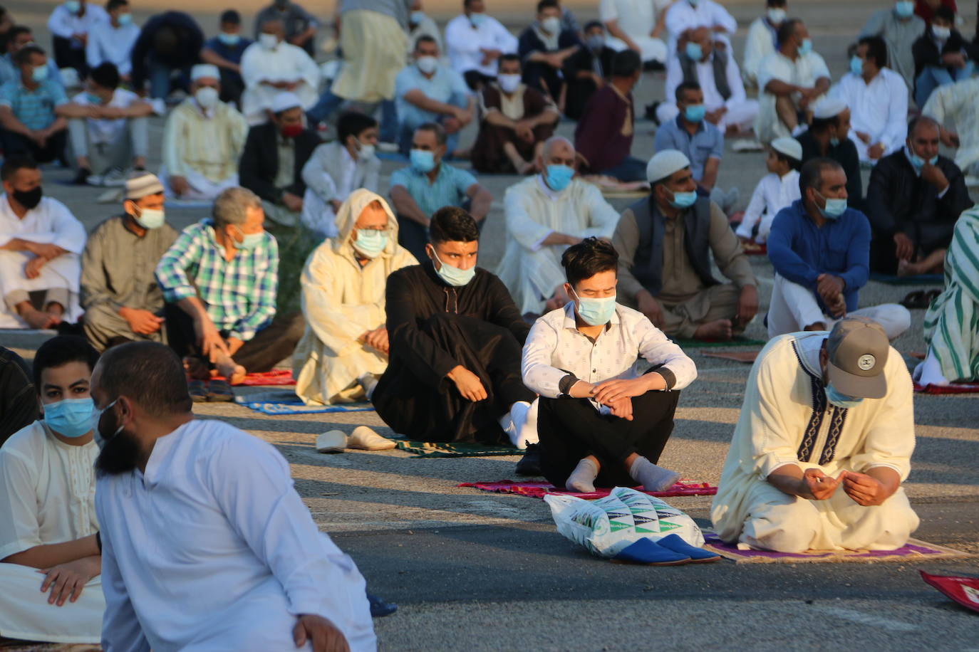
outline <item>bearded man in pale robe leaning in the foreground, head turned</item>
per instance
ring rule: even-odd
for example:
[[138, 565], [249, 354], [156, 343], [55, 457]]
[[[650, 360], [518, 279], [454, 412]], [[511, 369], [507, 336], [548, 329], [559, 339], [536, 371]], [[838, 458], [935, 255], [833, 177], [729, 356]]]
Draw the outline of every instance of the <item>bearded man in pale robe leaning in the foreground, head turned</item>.
[[[364, 580], [317, 530], [289, 464], [248, 433], [195, 419], [171, 351], [112, 349], [92, 398], [105, 443], [104, 649], [376, 648]], [[197, 534], [181, 536], [191, 523]]]

